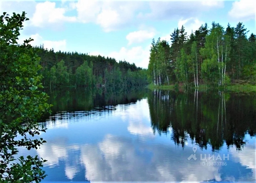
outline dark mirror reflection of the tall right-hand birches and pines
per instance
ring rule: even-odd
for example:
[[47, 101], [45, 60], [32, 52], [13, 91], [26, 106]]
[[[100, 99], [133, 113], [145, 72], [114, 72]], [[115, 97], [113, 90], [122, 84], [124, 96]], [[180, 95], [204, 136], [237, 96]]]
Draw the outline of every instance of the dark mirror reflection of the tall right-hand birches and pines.
[[201, 148], [210, 144], [218, 150], [225, 141], [241, 149], [245, 134], [255, 136], [256, 97], [155, 90], [148, 103], [154, 132], [166, 133], [171, 127], [172, 139], [182, 146], [193, 140]]

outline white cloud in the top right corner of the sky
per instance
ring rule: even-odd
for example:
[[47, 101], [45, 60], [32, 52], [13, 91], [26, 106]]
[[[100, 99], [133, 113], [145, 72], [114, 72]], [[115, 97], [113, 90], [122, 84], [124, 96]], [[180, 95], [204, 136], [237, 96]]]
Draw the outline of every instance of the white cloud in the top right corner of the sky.
[[255, 10], [255, 0], [240, 0], [232, 3], [232, 8], [228, 14], [239, 20], [250, 20], [255, 18]]

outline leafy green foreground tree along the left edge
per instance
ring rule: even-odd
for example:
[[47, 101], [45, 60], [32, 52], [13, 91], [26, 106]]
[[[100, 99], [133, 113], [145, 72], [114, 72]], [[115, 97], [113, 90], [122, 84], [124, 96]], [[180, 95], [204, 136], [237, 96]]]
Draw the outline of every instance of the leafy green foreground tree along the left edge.
[[33, 39], [17, 46], [25, 20], [25, 12], [0, 16], [0, 182], [40, 182], [46, 176], [41, 169], [46, 160], [38, 156], [15, 159], [18, 147], [37, 149], [46, 142], [29, 136], [45, 132], [37, 121], [50, 111], [47, 94], [38, 90], [42, 76], [38, 75], [39, 57], [29, 45]]

